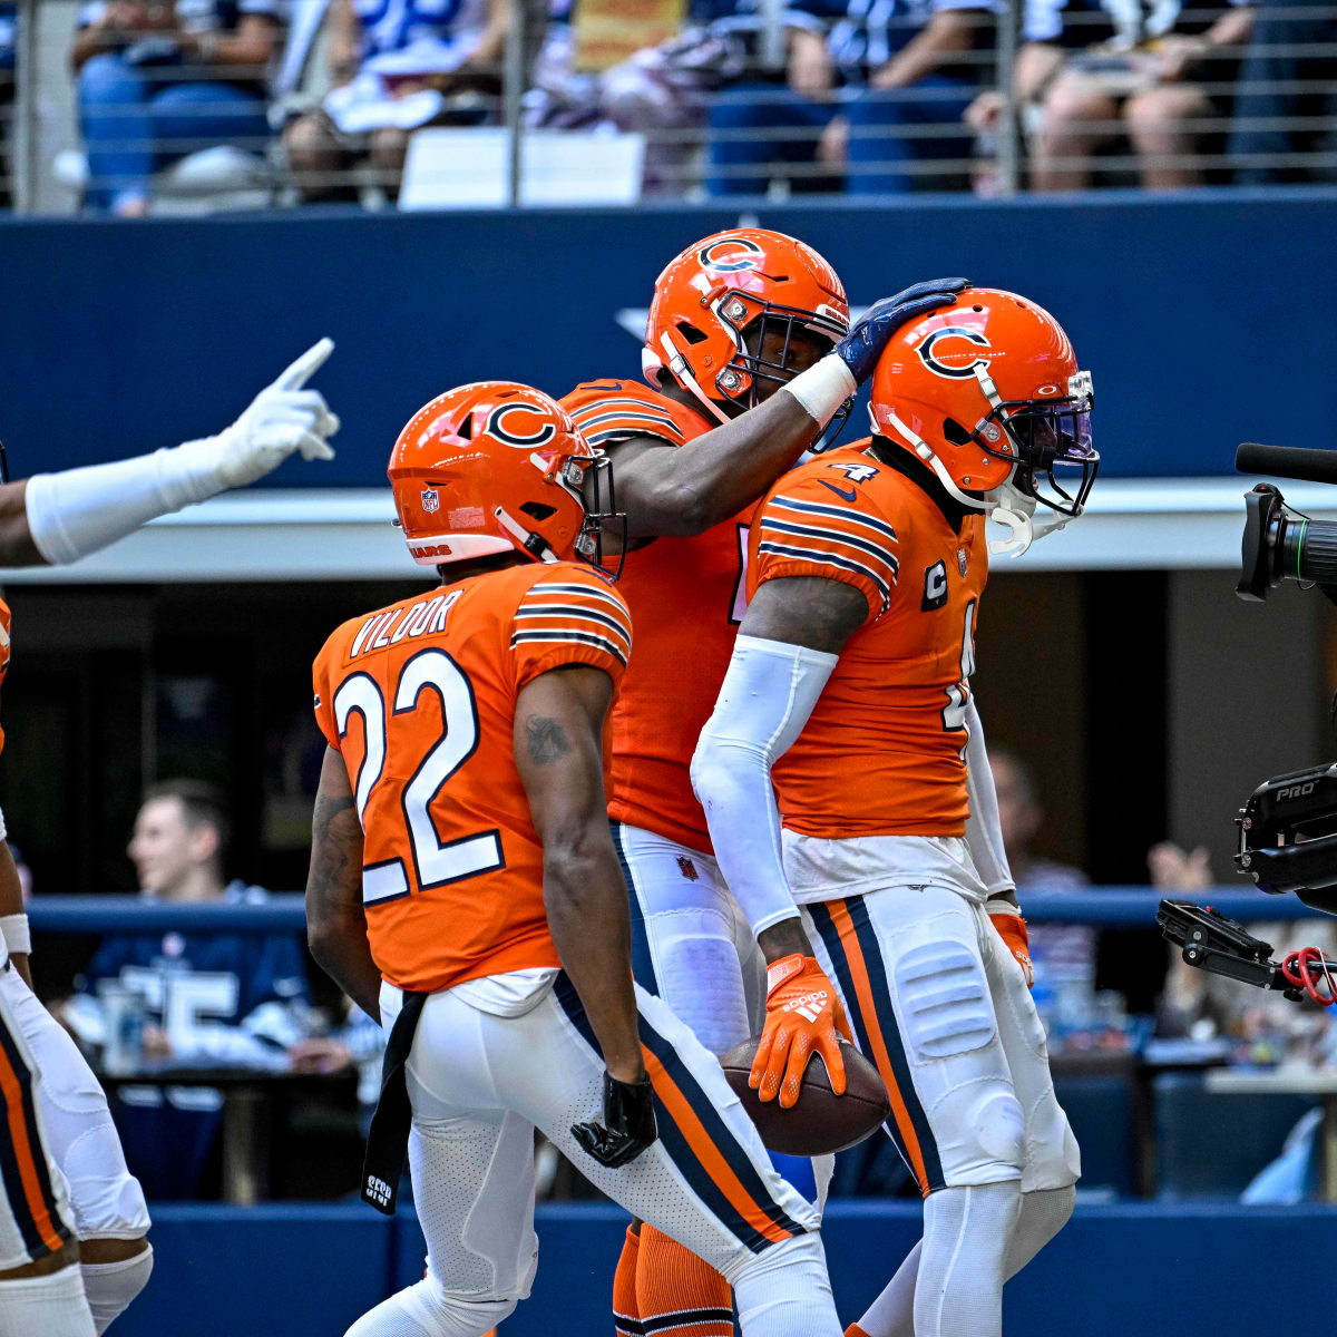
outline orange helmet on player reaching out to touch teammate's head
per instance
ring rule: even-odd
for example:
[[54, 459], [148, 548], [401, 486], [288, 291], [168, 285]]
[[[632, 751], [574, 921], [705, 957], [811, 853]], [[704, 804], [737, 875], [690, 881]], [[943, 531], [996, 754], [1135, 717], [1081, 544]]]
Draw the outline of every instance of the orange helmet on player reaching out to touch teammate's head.
[[[783, 334], [779, 361], [762, 356], [770, 332]], [[727, 422], [757, 402], [758, 381], [783, 385], [794, 333], [834, 346], [849, 332], [849, 302], [836, 270], [812, 249], [765, 227], [734, 227], [689, 246], [655, 282], [640, 365], [658, 384], [668, 374]]]

